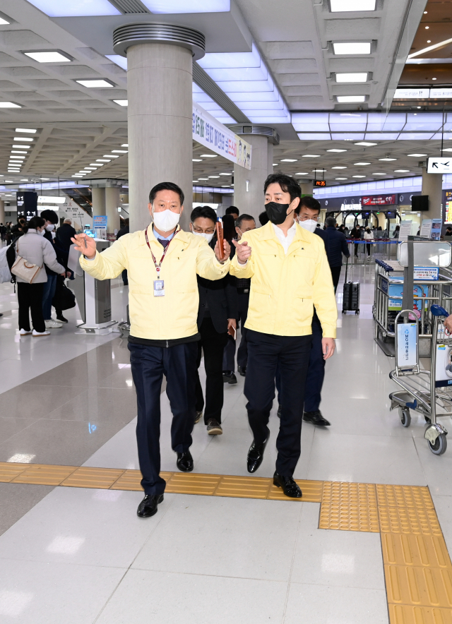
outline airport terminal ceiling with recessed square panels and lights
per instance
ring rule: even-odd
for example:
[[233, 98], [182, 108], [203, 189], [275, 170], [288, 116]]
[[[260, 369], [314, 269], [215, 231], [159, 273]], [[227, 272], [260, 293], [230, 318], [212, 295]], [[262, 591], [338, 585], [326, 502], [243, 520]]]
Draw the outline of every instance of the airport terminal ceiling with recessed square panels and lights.
[[[376, 0], [374, 10], [333, 11], [338, 1], [287, 0], [281, 11], [273, 0], [206, 0], [202, 12], [163, 16], [146, 8], [154, 6], [152, 0], [141, 3], [145, 13], [135, 15], [121, 15], [115, 8], [121, 1], [105, 0], [112, 14], [88, 17], [67, 14], [80, 4], [77, 0], [64, 3], [66, 16], [58, 15], [61, 2], [5, 0], [0, 14], [2, 179], [14, 184], [58, 176], [76, 181], [73, 176], [79, 175], [83, 184], [96, 178], [127, 179], [126, 59], [114, 55], [112, 29], [133, 20], [162, 19], [203, 30], [207, 54], [194, 76], [206, 79], [206, 91], [194, 83], [194, 99], [222, 123], [249, 120], [275, 128], [281, 138], [274, 150], [275, 169], [300, 181], [325, 179], [328, 185], [419, 175], [419, 163], [439, 155], [441, 131], [449, 149], [452, 97], [392, 97], [396, 88], [452, 89], [452, 44], [442, 43], [451, 39], [452, 2]], [[172, 4], [169, 0], [165, 6]], [[213, 5], [222, 11], [209, 13]], [[219, 23], [227, 27], [227, 37], [224, 30], [215, 36], [213, 25], [218, 32]], [[334, 44], [353, 42], [369, 42], [369, 53], [335, 54]], [[425, 51], [429, 46], [434, 49]], [[59, 56], [40, 58], [37, 52]], [[209, 81], [215, 92], [208, 92]], [[218, 88], [224, 108], [217, 101]], [[8, 102], [11, 107], [2, 107]], [[420, 119], [431, 109], [441, 119], [444, 109], [445, 124], [409, 133], [414, 116]], [[374, 132], [369, 139], [371, 126], [346, 133], [350, 116], [365, 113], [370, 124], [371, 113], [384, 119], [395, 111], [410, 115], [396, 135]], [[329, 123], [324, 140], [309, 127], [300, 132], [294, 121], [297, 113], [315, 112], [326, 115]], [[27, 136], [16, 128], [36, 132]], [[203, 158], [205, 152], [194, 143], [196, 185], [230, 186], [232, 164], [220, 156]], [[395, 160], [381, 160], [385, 158]]]

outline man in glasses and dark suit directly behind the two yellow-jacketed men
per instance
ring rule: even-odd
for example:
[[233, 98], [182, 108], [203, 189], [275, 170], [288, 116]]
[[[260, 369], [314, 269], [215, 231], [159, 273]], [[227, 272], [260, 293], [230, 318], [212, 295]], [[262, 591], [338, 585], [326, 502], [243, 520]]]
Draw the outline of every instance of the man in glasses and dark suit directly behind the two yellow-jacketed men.
[[[190, 215], [191, 233], [203, 237], [210, 248], [215, 248], [217, 237], [215, 224], [217, 215], [209, 206], [198, 206]], [[196, 380], [196, 419], [197, 423], [203, 414], [204, 424], [210, 436], [218, 436], [222, 433], [221, 410], [223, 407], [223, 376], [222, 359], [223, 351], [227, 344], [228, 332], [231, 328], [236, 330], [237, 318], [237, 291], [232, 284], [232, 277], [226, 275], [222, 280], [206, 280], [198, 275], [198, 331], [201, 340], [198, 342], [198, 359], [196, 364], [199, 368], [201, 356], [204, 354], [204, 368], [206, 370], [206, 402], [204, 402], [203, 389], [199, 375]], [[234, 376], [235, 377], [235, 376]], [[237, 379], [235, 380], [237, 383]]]

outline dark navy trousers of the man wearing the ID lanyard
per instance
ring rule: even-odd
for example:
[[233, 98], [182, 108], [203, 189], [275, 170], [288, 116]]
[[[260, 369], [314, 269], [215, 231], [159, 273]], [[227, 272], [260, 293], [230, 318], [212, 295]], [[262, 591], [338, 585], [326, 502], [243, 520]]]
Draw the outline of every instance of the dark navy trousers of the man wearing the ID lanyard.
[[160, 392], [163, 375], [172, 412], [171, 446], [175, 452], [191, 447], [195, 419], [196, 342], [174, 347], [148, 347], [129, 342], [131, 371], [136, 387], [138, 422], [136, 441], [145, 494], [160, 495]]

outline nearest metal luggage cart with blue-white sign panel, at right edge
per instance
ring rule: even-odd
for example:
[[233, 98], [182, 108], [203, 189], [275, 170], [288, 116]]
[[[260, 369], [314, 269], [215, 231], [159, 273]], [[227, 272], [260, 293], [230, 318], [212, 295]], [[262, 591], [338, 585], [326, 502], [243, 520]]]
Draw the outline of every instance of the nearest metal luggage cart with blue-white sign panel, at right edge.
[[430, 312], [433, 320], [430, 370], [420, 368], [419, 364], [419, 313], [402, 310], [396, 316], [396, 368], [389, 377], [402, 390], [391, 392], [389, 398], [391, 409], [398, 407], [404, 427], [411, 424], [410, 409], [424, 416], [424, 438], [435, 455], [442, 455], [447, 448], [447, 430], [436, 419], [452, 416], [452, 337], [443, 321], [448, 312], [437, 305], [431, 306]]

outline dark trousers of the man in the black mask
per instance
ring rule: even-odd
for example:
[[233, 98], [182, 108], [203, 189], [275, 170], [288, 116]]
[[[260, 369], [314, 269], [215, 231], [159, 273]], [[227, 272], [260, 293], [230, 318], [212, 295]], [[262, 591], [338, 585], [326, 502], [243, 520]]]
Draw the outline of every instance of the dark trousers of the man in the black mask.
[[304, 383], [311, 335], [275, 336], [248, 330], [247, 341], [244, 393], [248, 399], [249, 425], [255, 442], [263, 443], [267, 437], [268, 418], [275, 398], [275, 373], [279, 366], [283, 408], [276, 440], [276, 472], [292, 476], [301, 453]]

